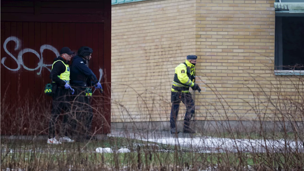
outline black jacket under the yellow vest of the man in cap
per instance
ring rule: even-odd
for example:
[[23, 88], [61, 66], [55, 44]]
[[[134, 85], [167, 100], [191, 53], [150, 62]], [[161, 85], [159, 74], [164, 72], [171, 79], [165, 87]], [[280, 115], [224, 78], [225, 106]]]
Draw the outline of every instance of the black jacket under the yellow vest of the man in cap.
[[[67, 61], [62, 58], [62, 57], [57, 57], [54, 59], [53, 63], [57, 60], [60, 60], [60, 61], [63, 61], [65, 64], [68, 64]], [[53, 65], [53, 69], [51, 71], [51, 74], [50, 74], [50, 79], [55, 82], [57, 84], [57, 86], [64, 86], [66, 82], [64, 82], [62, 79], [60, 79], [57, 75], [60, 75], [62, 73], [65, 72], [65, 65], [63, 65], [62, 62], [56, 62], [54, 65]]]

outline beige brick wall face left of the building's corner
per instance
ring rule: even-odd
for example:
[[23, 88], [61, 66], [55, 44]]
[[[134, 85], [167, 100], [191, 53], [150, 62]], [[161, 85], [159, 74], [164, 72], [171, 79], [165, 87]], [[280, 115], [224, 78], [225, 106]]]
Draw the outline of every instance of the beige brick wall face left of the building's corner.
[[168, 120], [174, 67], [188, 54], [195, 0], [112, 5], [111, 121]]

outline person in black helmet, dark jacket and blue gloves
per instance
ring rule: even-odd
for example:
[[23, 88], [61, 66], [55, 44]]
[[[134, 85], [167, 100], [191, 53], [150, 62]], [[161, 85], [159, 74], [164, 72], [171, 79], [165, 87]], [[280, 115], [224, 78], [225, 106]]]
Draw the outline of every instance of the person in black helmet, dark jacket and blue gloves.
[[[96, 75], [87, 66], [88, 61], [92, 58], [93, 50], [90, 47], [80, 47], [78, 54], [73, 58], [71, 64], [71, 85], [75, 89], [75, 109], [77, 121], [74, 122], [74, 130], [78, 131], [78, 140], [89, 139], [92, 127], [93, 111], [90, 107], [89, 97], [92, 95], [92, 87], [101, 89]], [[81, 127], [80, 123], [85, 127]], [[85, 135], [84, 135], [85, 134]]]

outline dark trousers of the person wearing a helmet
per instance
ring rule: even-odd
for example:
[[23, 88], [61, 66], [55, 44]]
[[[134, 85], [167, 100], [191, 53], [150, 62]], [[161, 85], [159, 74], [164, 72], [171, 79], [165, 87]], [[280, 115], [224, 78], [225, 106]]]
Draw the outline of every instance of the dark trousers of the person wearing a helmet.
[[73, 87], [74, 102], [73, 105], [73, 136], [76, 140], [81, 141], [91, 135], [93, 110], [91, 107], [89, 96], [85, 96], [85, 88]]

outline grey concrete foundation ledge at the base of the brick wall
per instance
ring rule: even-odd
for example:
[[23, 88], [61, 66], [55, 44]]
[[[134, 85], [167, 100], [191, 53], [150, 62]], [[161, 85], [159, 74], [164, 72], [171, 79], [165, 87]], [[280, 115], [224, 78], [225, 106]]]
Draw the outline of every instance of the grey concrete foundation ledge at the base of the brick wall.
[[[177, 122], [177, 129], [182, 131], [183, 121]], [[292, 121], [216, 121], [216, 120], [192, 120], [191, 127], [196, 132], [293, 132], [304, 131], [304, 122]], [[112, 122], [111, 129], [134, 129], [134, 130], [158, 130], [170, 131], [169, 121], [155, 122]]]

